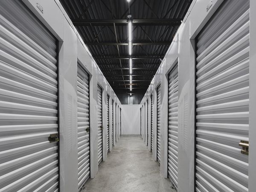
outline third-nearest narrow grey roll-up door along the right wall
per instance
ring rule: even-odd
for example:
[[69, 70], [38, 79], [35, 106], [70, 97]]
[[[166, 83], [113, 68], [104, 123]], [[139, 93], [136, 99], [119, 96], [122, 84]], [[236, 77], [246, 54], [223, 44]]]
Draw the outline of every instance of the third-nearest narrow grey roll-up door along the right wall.
[[160, 151], [161, 151], [161, 145], [160, 145], [160, 129], [161, 129], [161, 123], [160, 123], [160, 85], [157, 87], [157, 161], [160, 163]]

